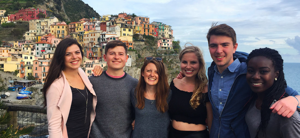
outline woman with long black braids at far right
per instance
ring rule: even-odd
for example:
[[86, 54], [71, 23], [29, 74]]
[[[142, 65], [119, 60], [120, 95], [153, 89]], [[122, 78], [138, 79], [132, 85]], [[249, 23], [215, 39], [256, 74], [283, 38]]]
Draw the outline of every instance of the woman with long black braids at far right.
[[[289, 96], [285, 88], [283, 59], [270, 48], [253, 50], [247, 59], [247, 82], [255, 93], [246, 113], [251, 138], [300, 137], [300, 116], [296, 111], [285, 118], [269, 109], [279, 99]], [[299, 105], [298, 105], [299, 106]]]

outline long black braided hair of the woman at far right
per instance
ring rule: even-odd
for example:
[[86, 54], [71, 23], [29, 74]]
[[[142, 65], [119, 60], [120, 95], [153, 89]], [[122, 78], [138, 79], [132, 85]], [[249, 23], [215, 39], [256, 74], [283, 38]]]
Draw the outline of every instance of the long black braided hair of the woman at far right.
[[[283, 59], [278, 53], [278, 51], [265, 47], [253, 50], [246, 61], [247, 65], [251, 58], [256, 56], [264, 56], [272, 61], [272, 65], [274, 66], [275, 71], [279, 71], [279, 75], [277, 77], [277, 81], [274, 81], [273, 85], [265, 91], [265, 97], [262, 100], [260, 116], [261, 122], [259, 127], [257, 128], [256, 138], [258, 137], [259, 131], [263, 132], [265, 135], [265, 128], [268, 125], [268, 121], [270, 120], [270, 109], [269, 104], [275, 96], [283, 91], [286, 88], [286, 80], [284, 79], [283, 73]], [[284, 94], [287, 97], [287, 94]]]

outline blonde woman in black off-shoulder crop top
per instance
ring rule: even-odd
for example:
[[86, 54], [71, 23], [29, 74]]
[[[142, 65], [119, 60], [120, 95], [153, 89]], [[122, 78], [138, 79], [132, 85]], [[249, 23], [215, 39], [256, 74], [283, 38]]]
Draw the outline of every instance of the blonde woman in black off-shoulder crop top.
[[212, 109], [207, 95], [207, 77], [202, 51], [195, 46], [186, 47], [179, 54], [182, 79], [173, 79], [169, 113], [172, 119], [170, 138], [208, 138]]

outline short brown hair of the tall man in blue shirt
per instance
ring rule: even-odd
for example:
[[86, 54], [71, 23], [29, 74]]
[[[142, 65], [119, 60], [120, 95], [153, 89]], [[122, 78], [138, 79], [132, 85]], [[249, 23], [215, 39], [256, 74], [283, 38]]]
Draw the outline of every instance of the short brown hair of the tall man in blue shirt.
[[217, 23], [212, 23], [211, 28], [209, 28], [207, 33], [207, 41], [209, 45], [209, 39], [211, 35], [216, 36], [228, 36], [232, 40], [232, 44], [236, 44], [236, 34], [232, 27], [228, 26], [227, 24], [220, 24], [217, 25]]

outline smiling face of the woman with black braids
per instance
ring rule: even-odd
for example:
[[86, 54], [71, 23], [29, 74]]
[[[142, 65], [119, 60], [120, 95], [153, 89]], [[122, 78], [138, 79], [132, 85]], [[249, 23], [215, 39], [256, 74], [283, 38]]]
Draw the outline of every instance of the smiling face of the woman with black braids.
[[250, 59], [247, 65], [247, 83], [255, 93], [261, 93], [270, 88], [279, 71], [274, 69], [271, 59], [265, 56], [256, 56]]

